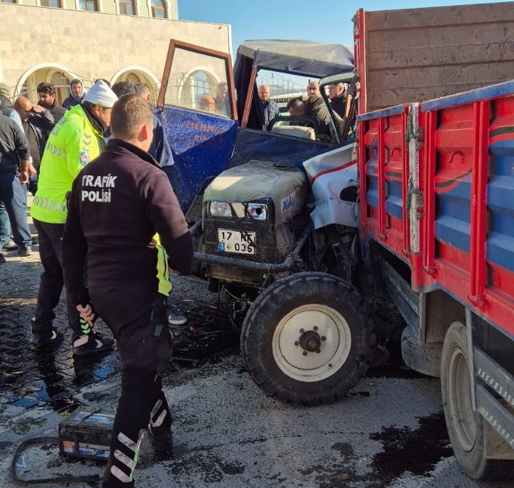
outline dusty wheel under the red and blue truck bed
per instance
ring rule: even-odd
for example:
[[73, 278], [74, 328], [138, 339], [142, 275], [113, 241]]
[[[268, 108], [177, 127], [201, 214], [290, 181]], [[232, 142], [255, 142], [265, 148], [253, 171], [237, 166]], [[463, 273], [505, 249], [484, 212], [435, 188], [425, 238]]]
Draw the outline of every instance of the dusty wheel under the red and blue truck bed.
[[441, 393], [446, 428], [462, 470], [475, 480], [506, 479], [513, 475], [513, 461], [485, 455], [485, 419], [471, 404], [471, 378], [466, 326], [450, 325], [441, 356]]

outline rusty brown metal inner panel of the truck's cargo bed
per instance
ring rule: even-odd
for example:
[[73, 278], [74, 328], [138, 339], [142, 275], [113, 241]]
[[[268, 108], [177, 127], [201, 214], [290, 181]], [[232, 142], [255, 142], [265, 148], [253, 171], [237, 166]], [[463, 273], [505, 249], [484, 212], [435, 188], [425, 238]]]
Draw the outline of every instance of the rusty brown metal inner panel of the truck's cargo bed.
[[367, 112], [514, 78], [514, 2], [365, 12]]

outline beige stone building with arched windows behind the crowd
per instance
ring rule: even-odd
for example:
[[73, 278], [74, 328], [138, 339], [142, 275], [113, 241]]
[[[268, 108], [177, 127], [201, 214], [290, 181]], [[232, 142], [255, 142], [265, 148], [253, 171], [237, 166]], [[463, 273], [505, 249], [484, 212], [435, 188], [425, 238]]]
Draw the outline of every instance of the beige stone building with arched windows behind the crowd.
[[[227, 24], [178, 20], [177, 0], [0, 0], [0, 81], [37, 101], [50, 82], [62, 102], [69, 82], [144, 82], [159, 93], [170, 38], [230, 52]], [[184, 60], [198, 86], [216, 81], [209, 66]], [[198, 78], [198, 80], [196, 80]]]

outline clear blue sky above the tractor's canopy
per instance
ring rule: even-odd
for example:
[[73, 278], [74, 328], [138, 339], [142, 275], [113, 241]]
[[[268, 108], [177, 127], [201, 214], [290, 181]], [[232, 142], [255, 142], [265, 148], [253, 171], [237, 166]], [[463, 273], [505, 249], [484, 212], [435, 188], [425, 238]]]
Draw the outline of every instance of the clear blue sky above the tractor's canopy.
[[179, 20], [232, 26], [233, 56], [249, 39], [307, 39], [353, 43], [352, 17], [358, 8], [392, 10], [499, 0], [178, 0]]

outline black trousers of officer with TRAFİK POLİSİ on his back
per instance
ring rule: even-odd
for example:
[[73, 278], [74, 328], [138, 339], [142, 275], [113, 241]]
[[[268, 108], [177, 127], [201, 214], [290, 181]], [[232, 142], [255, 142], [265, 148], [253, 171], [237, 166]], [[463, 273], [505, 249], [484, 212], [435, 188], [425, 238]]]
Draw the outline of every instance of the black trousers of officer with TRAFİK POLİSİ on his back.
[[159, 429], [171, 427], [159, 375], [172, 353], [172, 338], [166, 327], [166, 297], [149, 295], [126, 283], [89, 288], [89, 295], [96, 312], [117, 339], [122, 374], [122, 394], [102, 487], [133, 487], [133, 471], [151, 417]]

